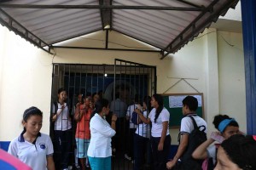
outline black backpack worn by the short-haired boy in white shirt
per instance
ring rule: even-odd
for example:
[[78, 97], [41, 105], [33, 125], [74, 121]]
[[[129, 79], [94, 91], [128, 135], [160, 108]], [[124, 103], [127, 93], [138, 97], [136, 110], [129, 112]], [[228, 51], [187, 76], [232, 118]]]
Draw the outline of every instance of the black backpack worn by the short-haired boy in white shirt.
[[183, 153], [183, 156], [181, 157], [181, 169], [193, 169], [193, 170], [201, 170], [201, 165], [204, 160], [195, 160], [192, 157], [192, 153], [194, 150], [203, 142], [207, 140], [207, 133], [204, 131], [206, 130], [206, 127], [204, 125], [201, 125], [200, 127], [197, 126], [195, 119], [193, 116], [189, 116], [193, 122], [194, 130], [192, 130], [191, 133], [189, 133], [189, 144], [187, 146], [187, 149]]

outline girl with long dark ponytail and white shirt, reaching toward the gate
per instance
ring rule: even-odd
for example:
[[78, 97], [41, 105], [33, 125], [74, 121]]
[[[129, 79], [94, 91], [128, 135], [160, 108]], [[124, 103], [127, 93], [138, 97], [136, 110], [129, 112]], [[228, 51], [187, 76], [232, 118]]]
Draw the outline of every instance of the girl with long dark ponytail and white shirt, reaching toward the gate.
[[166, 170], [166, 162], [171, 146], [170, 113], [164, 107], [164, 99], [160, 94], [154, 94], [150, 103], [154, 109], [150, 111], [148, 118], [145, 118], [141, 112], [137, 113], [143, 122], [152, 124], [150, 142], [154, 170]]

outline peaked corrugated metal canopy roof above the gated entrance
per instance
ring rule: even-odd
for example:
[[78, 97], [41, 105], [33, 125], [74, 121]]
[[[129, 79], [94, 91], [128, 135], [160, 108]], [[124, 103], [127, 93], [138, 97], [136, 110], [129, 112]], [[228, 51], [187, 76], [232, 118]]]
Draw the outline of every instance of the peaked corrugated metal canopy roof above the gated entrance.
[[109, 26], [110, 30], [159, 48], [164, 58], [182, 48], [237, 2], [0, 0], [0, 22], [43, 49]]

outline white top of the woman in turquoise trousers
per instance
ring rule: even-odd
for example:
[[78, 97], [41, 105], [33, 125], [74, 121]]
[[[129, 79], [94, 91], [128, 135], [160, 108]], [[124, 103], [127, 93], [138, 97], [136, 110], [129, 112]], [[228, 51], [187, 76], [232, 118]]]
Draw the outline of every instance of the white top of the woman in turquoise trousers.
[[111, 138], [115, 131], [97, 113], [90, 120], [90, 144], [87, 155], [90, 157], [112, 156]]

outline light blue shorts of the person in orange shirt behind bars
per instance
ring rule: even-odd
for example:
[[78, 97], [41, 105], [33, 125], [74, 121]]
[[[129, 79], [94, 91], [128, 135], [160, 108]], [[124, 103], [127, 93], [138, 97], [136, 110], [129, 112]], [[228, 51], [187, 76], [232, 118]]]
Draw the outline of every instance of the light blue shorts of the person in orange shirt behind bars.
[[76, 138], [76, 141], [77, 141], [77, 157], [78, 158], [87, 157], [87, 150], [90, 144], [90, 139]]

